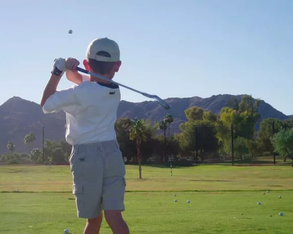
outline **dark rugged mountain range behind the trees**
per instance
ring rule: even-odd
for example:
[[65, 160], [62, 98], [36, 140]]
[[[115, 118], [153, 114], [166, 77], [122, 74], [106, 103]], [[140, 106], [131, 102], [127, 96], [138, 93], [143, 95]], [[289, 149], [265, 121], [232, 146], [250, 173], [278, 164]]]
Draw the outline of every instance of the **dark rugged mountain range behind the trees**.
[[[171, 131], [178, 131], [179, 124], [186, 121], [184, 110], [192, 106], [202, 107], [205, 110], [219, 113], [227, 102], [236, 97], [239, 101], [242, 95], [214, 95], [210, 98], [168, 98], [166, 101], [171, 105], [169, 111], [165, 111], [157, 102], [146, 101], [142, 103], [131, 103], [121, 101], [117, 116], [130, 118], [149, 118], [159, 121], [169, 113], [174, 117]], [[259, 112], [264, 118], [278, 118], [281, 120], [289, 118], [282, 112], [274, 109], [271, 105], [261, 101]], [[12, 140], [18, 152], [28, 152], [28, 146], [23, 142], [28, 132], [34, 132], [36, 140], [34, 147], [42, 146], [42, 127], [44, 126], [45, 139], [59, 141], [65, 138], [65, 113], [45, 115], [39, 104], [30, 102], [19, 97], [13, 97], [0, 106], [0, 154], [7, 152], [6, 145]]]

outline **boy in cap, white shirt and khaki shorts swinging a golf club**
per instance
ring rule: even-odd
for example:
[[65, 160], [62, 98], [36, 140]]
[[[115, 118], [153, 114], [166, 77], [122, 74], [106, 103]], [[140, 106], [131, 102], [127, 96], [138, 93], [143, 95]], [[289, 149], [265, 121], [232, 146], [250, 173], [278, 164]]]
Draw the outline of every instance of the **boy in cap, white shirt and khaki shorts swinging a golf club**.
[[[98, 234], [102, 210], [113, 234], [129, 234], [122, 218], [125, 165], [114, 124], [120, 103], [119, 86], [76, 72], [76, 59], [58, 58], [44, 90], [45, 114], [66, 112], [66, 140], [73, 145], [70, 158], [77, 216], [87, 219], [84, 234]], [[83, 60], [86, 70], [112, 79], [121, 66], [118, 44], [108, 38], [93, 40]], [[62, 75], [76, 85], [56, 91]]]

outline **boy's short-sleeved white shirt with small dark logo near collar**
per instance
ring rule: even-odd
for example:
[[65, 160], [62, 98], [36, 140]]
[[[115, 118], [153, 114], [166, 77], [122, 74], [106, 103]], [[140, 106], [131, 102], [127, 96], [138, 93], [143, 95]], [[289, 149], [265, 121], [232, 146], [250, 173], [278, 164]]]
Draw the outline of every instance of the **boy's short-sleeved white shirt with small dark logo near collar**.
[[121, 100], [118, 85], [83, 82], [73, 88], [56, 91], [45, 103], [45, 114], [66, 113], [66, 140], [82, 144], [116, 139], [114, 124]]

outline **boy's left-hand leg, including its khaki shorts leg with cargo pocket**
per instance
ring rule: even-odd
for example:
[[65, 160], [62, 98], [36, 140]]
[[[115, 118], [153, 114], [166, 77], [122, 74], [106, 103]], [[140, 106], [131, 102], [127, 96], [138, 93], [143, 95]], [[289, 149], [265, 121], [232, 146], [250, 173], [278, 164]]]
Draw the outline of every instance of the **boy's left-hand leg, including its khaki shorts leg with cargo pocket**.
[[70, 159], [77, 217], [87, 219], [84, 234], [99, 234], [102, 222], [102, 153], [95, 145], [73, 146]]

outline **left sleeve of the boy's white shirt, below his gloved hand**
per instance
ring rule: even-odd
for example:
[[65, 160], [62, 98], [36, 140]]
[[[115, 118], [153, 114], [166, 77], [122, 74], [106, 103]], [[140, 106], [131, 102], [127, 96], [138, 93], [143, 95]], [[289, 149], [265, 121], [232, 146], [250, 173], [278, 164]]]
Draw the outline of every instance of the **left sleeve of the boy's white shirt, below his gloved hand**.
[[77, 86], [65, 90], [57, 90], [47, 99], [43, 106], [45, 114], [64, 111], [66, 107], [77, 104], [76, 91]]

